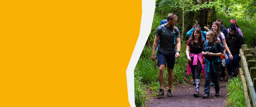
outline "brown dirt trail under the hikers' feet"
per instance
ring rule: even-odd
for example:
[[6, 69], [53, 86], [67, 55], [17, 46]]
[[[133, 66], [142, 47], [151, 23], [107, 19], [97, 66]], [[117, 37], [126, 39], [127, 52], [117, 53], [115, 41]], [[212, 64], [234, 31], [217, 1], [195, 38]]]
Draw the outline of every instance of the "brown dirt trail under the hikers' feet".
[[[227, 94], [227, 77], [225, 81], [220, 81], [220, 96], [215, 97], [215, 89], [210, 87], [210, 98], [203, 99], [204, 96], [204, 82], [201, 81], [199, 92], [200, 96], [194, 98], [194, 89], [192, 85], [179, 84], [172, 90], [173, 97], [167, 97], [167, 90], [165, 90], [165, 96], [157, 99], [152, 96], [145, 102], [148, 107], [225, 107], [226, 106], [226, 94]], [[150, 93], [149, 93], [150, 94]]]

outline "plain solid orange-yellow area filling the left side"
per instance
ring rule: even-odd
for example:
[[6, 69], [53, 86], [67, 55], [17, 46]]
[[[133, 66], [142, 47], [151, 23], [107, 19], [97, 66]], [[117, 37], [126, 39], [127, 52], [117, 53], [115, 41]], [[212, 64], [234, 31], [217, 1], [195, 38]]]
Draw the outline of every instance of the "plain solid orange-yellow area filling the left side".
[[0, 107], [129, 107], [140, 0], [1, 2]]

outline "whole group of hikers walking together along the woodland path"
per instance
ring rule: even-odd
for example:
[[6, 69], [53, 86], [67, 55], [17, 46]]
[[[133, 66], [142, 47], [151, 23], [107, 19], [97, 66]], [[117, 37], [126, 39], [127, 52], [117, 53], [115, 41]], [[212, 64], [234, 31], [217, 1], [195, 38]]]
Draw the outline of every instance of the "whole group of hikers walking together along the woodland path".
[[[175, 14], [168, 14], [167, 19], [161, 21], [155, 34], [151, 59], [153, 61], [157, 59], [159, 66], [160, 90], [157, 96], [164, 95], [164, 71], [167, 67], [167, 96], [172, 97], [173, 69], [175, 59], [180, 57], [181, 47], [180, 31], [175, 27], [177, 18]], [[200, 75], [203, 73], [205, 78], [203, 98], [207, 99], [209, 98], [210, 86], [214, 86], [215, 96], [219, 96], [219, 79], [223, 81], [226, 76], [225, 66], [227, 67], [229, 81], [238, 75], [241, 59], [239, 50], [241, 45], [244, 44], [244, 40], [236, 20], [230, 20], [228, 29], [224, 27], [221, 19], [213, 22], [211, 29], [206, 26], [204, 28], [207, 29], [207, 32], [201, 31], [200, 25], [193, 25], [193, 28], [187, 32], [189, 40], [186, 44], [186, 56], [188, 59], [187, 74], [189, 75], [192, 72], [195, 86], [193, 96], [199, 97]]]

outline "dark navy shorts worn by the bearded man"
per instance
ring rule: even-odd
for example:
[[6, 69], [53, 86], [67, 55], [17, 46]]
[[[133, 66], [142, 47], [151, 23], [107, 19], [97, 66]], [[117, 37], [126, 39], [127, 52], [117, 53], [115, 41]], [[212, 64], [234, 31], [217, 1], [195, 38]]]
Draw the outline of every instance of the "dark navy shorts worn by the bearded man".
[[175, 64], [175, 54], [176, 53], [159, 52], [159, 54], [158, 54], [158, 66], [164, 65], [166, 67], [166, 62], [167, 62], [167, 67], [173, 69], [174, 64]]

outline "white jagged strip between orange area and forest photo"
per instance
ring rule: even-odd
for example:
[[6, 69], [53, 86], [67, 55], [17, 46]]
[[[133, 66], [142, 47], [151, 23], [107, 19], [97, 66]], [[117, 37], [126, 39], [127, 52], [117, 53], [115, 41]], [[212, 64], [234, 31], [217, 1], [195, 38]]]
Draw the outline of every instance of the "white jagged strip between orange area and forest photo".
[[154, 18], [155, 3], [156, 0], [142, 0], [140, 35], [132, 53], [128, 68], [126, 70], [128, 99], [131, 107], [136, 107], [134, 100], [134, 68], [140, 58], [140, 54], [151, 31], [151, 26]]

